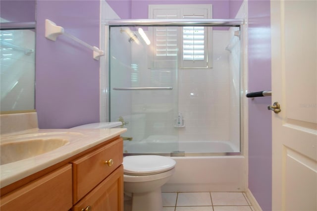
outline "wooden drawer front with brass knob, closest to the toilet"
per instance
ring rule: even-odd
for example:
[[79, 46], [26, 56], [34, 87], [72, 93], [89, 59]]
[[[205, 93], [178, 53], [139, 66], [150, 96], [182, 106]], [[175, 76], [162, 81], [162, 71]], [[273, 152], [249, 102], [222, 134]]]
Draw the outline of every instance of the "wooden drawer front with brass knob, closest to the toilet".
[[[113, 163], [106, 164], [112, 159]], [[111, 160], [110, 160], [111, 161]], [[73, 203], [78, 202], [89, 191], [103, 181], [123, 162], [123, 141], [117, 139], [100, 149], [74, 160]]]

